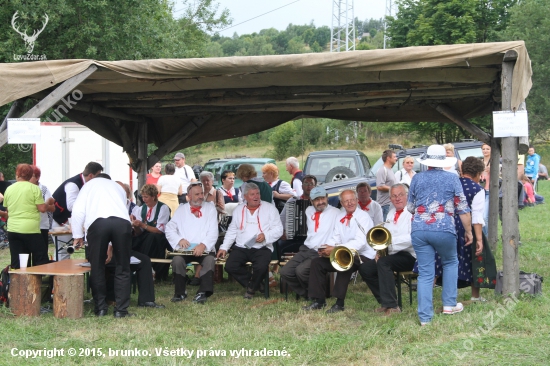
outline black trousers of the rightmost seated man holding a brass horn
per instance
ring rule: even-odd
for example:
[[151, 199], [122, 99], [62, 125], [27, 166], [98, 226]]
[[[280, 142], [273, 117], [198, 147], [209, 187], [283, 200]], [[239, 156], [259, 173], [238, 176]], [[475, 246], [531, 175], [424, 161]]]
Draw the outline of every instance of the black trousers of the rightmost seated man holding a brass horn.
[[397, 252], [378, 259], [369, 260], [359, 267], [359, 273], [367, 283], [376, 301], [382, 307], [396, 308], [395, 277], [393, 272], [412, 271], [416, 259], [409, 252]]

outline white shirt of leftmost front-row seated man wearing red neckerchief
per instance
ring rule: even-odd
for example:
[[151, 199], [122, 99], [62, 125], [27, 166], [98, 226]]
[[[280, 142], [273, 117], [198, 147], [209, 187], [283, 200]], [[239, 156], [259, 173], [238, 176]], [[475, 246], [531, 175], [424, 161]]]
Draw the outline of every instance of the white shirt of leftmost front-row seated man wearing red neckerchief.
[[181, 249], [181, 239], [189, 243], [204, 244], [205, 252], [211, 252], [218, 240], [218, 213], [211, 202], [203, 202], [201, 207], [202, 216], [196, 217], [191, 213], [191, 205], [181, 205], [172, 220], [166, 225], [166, 239], [174, 249]]

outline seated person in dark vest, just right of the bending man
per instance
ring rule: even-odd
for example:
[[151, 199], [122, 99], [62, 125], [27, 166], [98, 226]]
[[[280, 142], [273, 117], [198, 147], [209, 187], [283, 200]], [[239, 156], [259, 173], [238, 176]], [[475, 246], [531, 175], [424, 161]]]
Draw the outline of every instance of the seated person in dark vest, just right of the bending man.
[[[170, 209], [168, 205], [159, 202], [158, 193], [156, 185], [144, 185], [140, 190], [144, 205], [134, 207], [130, 215], [134, 235], [132, 250], [149, 258], [165, 258], [166, 250], [170, 249], [164, 235], [166, 224], [170, 220]], [[168, 276], [167, 264], [155, 263], [153, 269], [157, 279]]]

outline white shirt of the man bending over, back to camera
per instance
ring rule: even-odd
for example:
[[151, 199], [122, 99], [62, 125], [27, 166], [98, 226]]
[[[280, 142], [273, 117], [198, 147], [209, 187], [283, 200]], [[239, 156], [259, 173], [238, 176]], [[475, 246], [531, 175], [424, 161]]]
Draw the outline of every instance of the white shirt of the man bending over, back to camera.
[[75, 239], [84, 237], [84, 229], [97, 219], [120, 217], [130, 222], [126, 208], [126, 192], [116, 182], [94, 178], [86, 183], [74, 202], [71, 228]]

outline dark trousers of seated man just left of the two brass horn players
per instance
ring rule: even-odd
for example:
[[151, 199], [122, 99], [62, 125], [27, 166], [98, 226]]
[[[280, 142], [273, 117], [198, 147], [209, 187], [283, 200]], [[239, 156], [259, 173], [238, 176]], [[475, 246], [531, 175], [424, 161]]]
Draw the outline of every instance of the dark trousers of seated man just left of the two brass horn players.
[[300, 251], [281, 267], [279, 271], [281, 277], [285, 279], [296, 294], [303, 297], [308, 294], [311, 260], [318, 257], [319, 253], [316, 250], [302, 245]]

